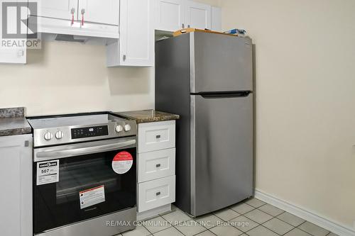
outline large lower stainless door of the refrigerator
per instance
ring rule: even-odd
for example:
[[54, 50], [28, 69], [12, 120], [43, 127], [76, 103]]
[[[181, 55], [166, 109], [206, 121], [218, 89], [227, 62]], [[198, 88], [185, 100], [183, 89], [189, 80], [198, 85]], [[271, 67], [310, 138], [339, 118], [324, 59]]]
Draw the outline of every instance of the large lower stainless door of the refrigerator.
[[253, 94], [191, 95], [191, 214], [253, 194]]

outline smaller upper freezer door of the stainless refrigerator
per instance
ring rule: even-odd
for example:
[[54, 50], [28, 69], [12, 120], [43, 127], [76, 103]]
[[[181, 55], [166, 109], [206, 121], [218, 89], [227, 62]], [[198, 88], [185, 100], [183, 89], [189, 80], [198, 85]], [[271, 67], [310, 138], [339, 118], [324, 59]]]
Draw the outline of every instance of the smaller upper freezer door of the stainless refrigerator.
[[252, 91], [250, 38], [190, 33], [190, 91]]

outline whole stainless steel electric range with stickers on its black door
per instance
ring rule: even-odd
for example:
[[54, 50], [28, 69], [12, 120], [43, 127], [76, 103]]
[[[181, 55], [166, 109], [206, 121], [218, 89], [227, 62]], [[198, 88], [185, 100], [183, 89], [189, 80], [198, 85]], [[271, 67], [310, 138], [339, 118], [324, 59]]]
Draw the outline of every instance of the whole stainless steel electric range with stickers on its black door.
[[116, 235], [136, 220], [136, 122], [111, 113], [28, 118], [34, 235]]

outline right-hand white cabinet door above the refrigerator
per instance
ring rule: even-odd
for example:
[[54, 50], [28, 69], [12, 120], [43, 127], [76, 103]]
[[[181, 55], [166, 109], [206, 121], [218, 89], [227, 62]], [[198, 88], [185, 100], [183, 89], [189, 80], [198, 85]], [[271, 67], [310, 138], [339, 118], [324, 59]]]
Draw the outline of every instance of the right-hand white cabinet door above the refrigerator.
[[186, 23], [188, 28], [211, 28], [211, 6], [187, 1]]

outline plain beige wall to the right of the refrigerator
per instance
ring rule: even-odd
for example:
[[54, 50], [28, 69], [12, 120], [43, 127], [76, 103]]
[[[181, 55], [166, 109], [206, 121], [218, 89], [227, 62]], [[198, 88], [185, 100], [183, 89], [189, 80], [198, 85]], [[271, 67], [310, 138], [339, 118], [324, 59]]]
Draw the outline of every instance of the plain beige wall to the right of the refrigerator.
[[220, 4], [256, 44], [256, 189], [353, 228], [355, 1]]

